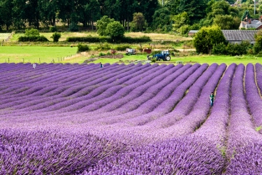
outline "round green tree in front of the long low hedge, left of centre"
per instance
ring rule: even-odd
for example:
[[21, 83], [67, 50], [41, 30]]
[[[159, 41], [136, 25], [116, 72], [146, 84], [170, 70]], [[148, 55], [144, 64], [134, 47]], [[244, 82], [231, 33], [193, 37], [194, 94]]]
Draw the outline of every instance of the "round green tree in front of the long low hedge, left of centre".
[[119, 40], [124, 36], [124, 27], [119, 21], [110, 22], [105, 29], [105, 33], [110, 36], [113, 41]]

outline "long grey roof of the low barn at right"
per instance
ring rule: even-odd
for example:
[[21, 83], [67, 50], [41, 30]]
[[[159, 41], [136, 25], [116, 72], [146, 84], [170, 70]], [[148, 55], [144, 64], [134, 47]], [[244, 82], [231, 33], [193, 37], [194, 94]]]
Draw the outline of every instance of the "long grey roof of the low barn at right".
[[258, 30], [222, 30], [226, 41], [255, 41]]

